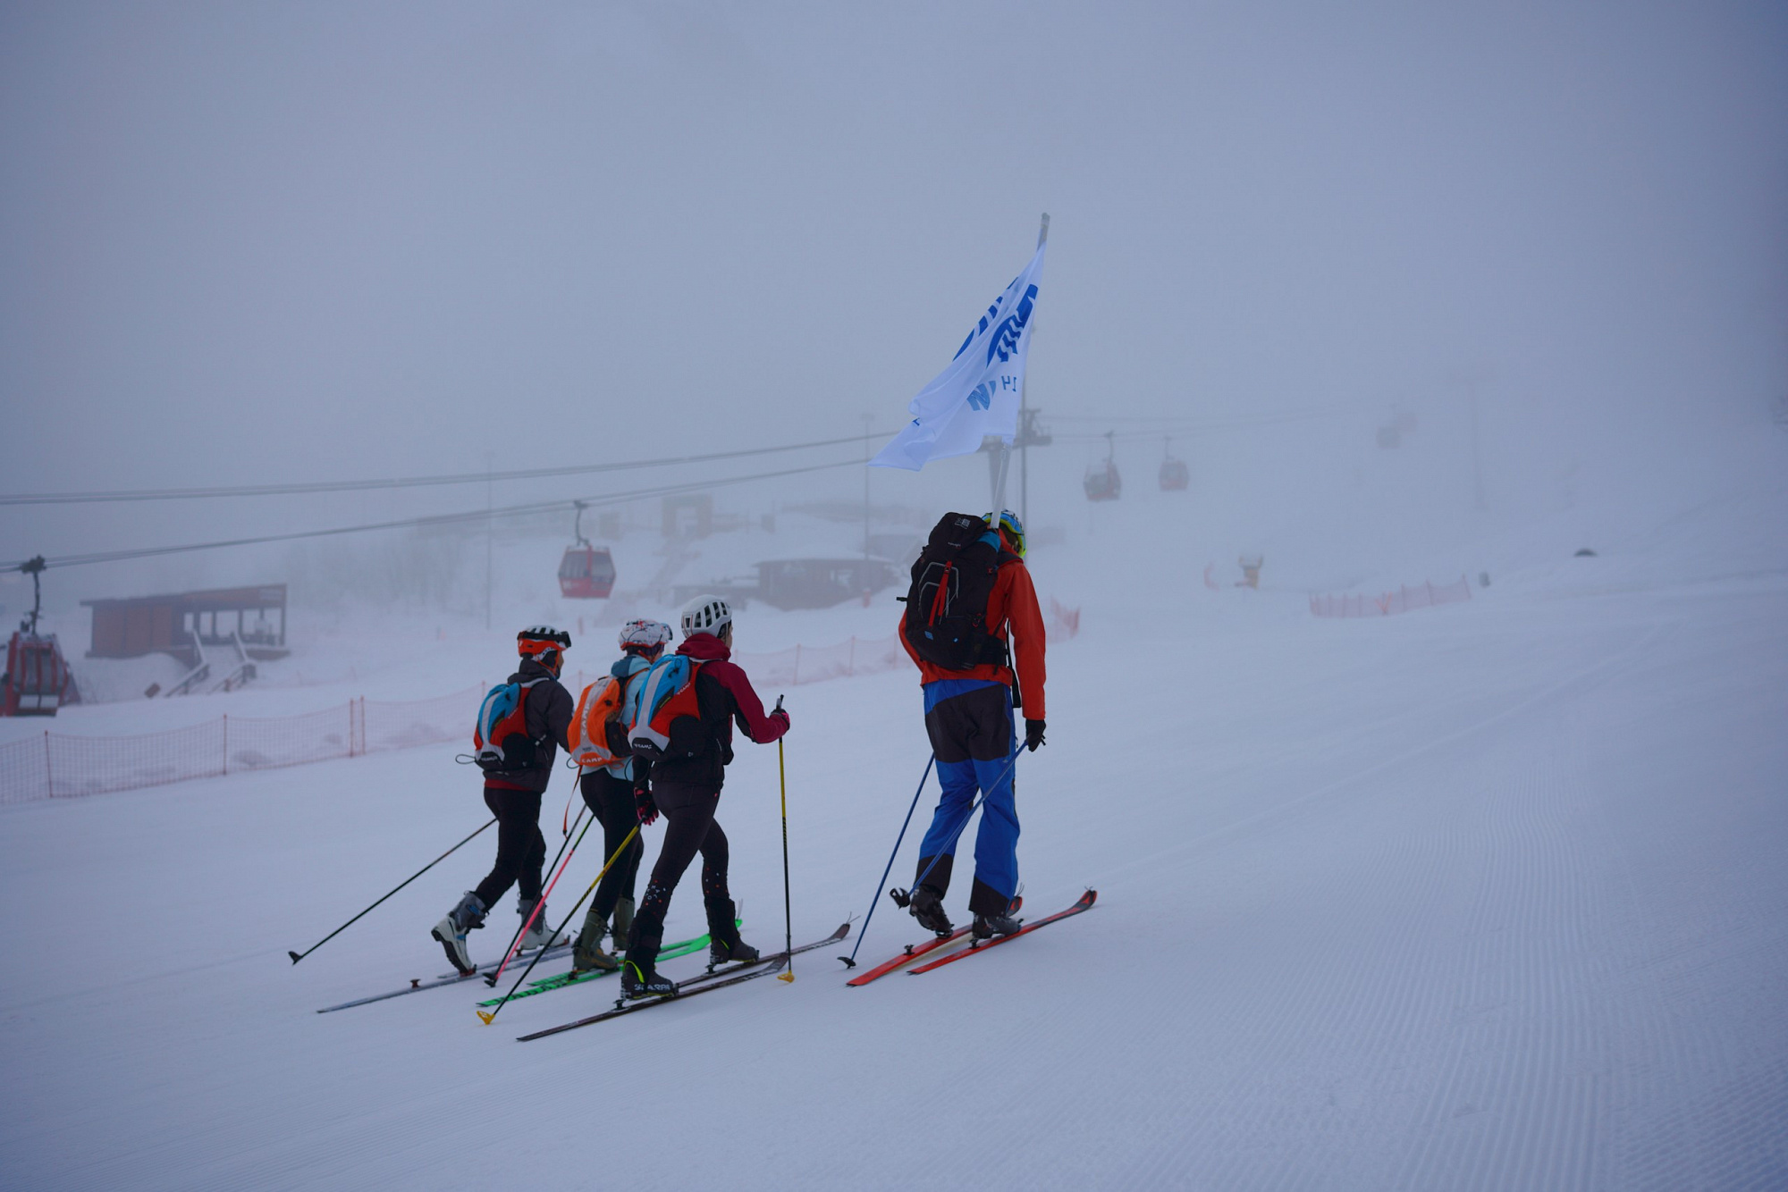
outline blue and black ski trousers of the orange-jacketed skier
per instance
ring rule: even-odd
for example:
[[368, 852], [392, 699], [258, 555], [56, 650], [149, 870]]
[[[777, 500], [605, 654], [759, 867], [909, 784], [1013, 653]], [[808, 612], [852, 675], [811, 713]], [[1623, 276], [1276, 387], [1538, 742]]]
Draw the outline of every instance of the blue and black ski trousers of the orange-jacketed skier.
[[944, 679], [924, 684], [924, 727], [944, 793], [919, 845], [917, 874], [930, 869], [924, 885], [939, 892], [949, 888], [957, 840], [976, 795], [985, 792], [982, 826], [974, 833], [969, 911], [1003, 915], [1017, 892], [1012, 690], [1003, 683]]

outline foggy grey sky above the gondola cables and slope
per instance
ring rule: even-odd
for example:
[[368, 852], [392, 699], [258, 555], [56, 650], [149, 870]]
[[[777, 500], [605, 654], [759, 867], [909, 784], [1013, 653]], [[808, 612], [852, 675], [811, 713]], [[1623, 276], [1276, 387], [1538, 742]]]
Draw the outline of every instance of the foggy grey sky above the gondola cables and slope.
[[[892, 432], [1041, 211], [1048, 411], [1480, 377], [1511, 459], [1761, 427], [1788, 14], [1463, 9], [11, 4], [0, 488]], [[5, 511], [0, 556], [363, 508]]]

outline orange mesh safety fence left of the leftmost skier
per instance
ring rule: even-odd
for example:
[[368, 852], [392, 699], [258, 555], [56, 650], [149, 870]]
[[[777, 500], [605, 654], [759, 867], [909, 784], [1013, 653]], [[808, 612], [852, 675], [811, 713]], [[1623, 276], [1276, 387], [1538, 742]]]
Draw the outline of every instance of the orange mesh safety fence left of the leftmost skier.
[[413, 702], [350, 699], [297, 717], [218, 717], [138, 736], [41, 736], [0, 745], [0, 806], [270, 770], [470, 740], [483, 688]]

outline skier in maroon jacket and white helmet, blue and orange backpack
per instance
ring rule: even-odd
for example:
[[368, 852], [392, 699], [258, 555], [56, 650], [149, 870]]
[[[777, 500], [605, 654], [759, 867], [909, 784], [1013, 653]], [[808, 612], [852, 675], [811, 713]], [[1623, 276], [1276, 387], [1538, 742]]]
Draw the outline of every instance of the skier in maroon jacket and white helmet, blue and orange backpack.
[[[640, 899], [628, 936], [628, 956], [620, 969], [622, 994], [628, 997], [676, 994], [676, 985], [653, 967], [663, 944], [665, 911], [670, 894], [688, 863], [701, 852], [701, 897], [708, 911], [708, 954], [715, 963], [758, 960], [758, 949], [738, 938], [731, 894], [726, 888], [726, 833], [713, 820], [721, 802], [721, 785], [733, 760], [733, 722], [753, 742], [765, 745], [789, 731], [789, 713], [778, 708], [765, 715], [763, 701], [751, 688], [746, 672], [731, 663], [733, 611], [721, 597], [703, 595], [683, 606], [683, 645], [678, 656], [688, 659], [688, 683], [676, 692], [660, 692], [669, 683], [674, 659], [660, 661], [645, 679], [638, 718], [633, 726], [635, 754], [660, 752], [651, 768], [651, 786], [635, 790], [640, 824], [651, 824], [662, 811], [665, 840], [653, 865], [645, 897]], [[644, 733], [644, 736], [642, 736]]]

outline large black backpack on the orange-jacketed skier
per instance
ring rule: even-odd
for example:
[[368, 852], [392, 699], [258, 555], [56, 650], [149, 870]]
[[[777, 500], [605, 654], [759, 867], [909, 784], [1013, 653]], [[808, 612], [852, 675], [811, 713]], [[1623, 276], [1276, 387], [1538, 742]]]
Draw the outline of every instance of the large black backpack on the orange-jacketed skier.
[[933, 667], [969, 670], [1005, 665], [1007, 645], [987, 625], [987, 597], [999, 563], [1017, 558], [985, 541], [987, 518], [946, 513], [912, 565], [907, 643]]

